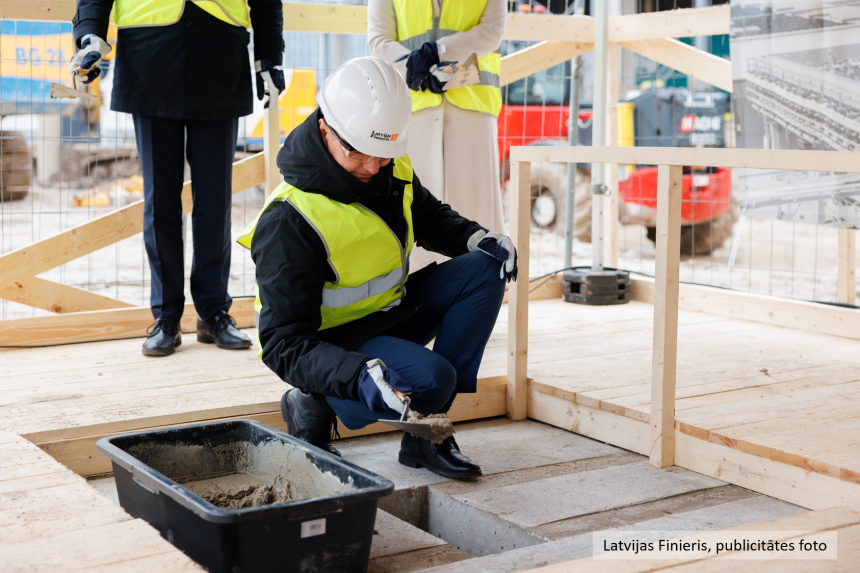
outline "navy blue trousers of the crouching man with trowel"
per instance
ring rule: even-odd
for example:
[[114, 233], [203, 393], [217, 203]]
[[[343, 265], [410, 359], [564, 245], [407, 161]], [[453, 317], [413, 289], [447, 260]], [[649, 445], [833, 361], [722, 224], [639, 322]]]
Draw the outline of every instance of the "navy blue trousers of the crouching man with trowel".
[[[476, 391], [478, 367], [505, 296], [501, 265], [484, 253], [469, 253], [442, 263], [417, 284], [407, 281], [406, 299], [420, 303], [421, 310], [358, 348], [412, 388], [416, 412], [447, 412], [458, 392]], [[433, 350], [426, 348], [434, 338]], [[394, 410], [373, 412], [358, 401], [326, 401], [350, 430], [399, 416]]]

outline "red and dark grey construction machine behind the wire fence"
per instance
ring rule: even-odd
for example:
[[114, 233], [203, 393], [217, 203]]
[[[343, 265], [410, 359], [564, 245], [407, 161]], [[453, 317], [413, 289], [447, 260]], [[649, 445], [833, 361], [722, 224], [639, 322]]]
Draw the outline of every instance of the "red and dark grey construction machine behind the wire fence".
[[[510, 148], [516, 145], [567, 145], [570, 63], [549, 68], [503, 89], [499, 115], [502, 177], [508, 177]], [[578, 144], [591, 145], [591, 104], [579, 112]], [[725, 124], [731, 119], [728, 94], [690, 92], [684, 88], [652, 88], [632, 92], [618, 106], [621, 145], [660, 147], [724, 147]], [[621, 221], [641, 224], [656, 238], [657, 169], [626, 166], [619, 170]], [[591, 240], [591, 165], [577, 165], [574, 191], [574, 236]], [[532, 221], [564, 232], [567, 166], [532, 165]], [[684, 168], [681, 252], [708, 254], [732, 234], [737, 218], [731, 199], [729, 169]]]

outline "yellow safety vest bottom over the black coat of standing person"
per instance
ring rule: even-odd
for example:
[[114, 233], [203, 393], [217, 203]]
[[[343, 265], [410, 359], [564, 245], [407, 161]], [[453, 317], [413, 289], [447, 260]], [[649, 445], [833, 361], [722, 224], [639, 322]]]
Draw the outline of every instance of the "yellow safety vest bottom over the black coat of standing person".
[[242, 28], [251, 26], [245, 0], [116, 0], [114, 21], [117, 28], [169, 26], [179, 21], [185, 2], [191, 1], [222, 22]]

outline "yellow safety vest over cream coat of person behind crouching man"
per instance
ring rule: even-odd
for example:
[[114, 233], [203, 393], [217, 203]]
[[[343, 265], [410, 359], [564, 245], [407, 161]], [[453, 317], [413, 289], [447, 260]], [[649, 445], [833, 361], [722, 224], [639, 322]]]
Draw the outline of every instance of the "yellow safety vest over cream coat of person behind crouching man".
[[[394, 0], [397, 15], [397, 41], [408, 50], [417, 50], [425, 42], [471, 30], [481, 21], [487, 0], [443, 0], [442, 13], [433, 17], [433, 0]], [[445, 55], [439, 56], [445, 61]], [[462, 62], [461, 62], [462, 63]], [[481, 83], [445, 92], [445, 99], [461, 109], [495, 116], [502, 110], [499, 75], [502, 58], [498, 51], [478, 58]], [[412, 92], [412, 111], [442, 104], [442, 96], [430, 91]]]

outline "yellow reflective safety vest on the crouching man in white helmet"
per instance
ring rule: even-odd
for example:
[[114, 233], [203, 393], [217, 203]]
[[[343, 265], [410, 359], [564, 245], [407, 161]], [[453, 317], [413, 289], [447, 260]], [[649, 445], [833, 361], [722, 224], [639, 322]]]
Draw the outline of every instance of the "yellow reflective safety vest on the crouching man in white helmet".
[[[260, 218], [279, 201], [289, 201], [325, 243], [334, 282], [323, 285], [320, 330], [358, 320], [395, 307], [403, 296], [409, 275], [409, 254], [415, 242], [412, 231], [412, 164], [404, 155], [394, 162], [394, 177], [408, 181], [403, 190], [406, 244], [361, 203], [341, 203], [319, 193], [306, 193], [284, 182], [266, 199], [262, 210], [242, 232], [238, 242], [250, 249]], [[254, 318], [259, 335], [265, 300], [254, 283]], [[259, 347], [259, 338], [257, 338]], [[260, 348], [262, 354], [262, 348]]]

